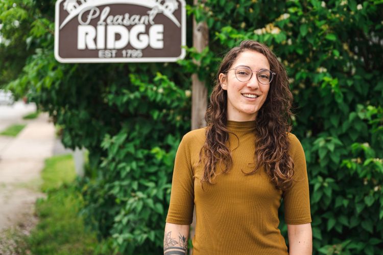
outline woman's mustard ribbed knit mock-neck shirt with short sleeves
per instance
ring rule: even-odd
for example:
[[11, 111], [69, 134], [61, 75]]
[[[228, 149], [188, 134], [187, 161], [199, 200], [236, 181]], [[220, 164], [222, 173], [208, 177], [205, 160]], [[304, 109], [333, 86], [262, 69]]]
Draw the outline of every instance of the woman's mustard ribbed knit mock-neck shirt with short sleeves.
[[[201, 183], [199, 163], [206, 128], [185, 134], [179, 145], [166, 222], [187, 225], [196, 206], [193, 255], [288, 254], [278, 229], [278, 208], [284, 200], [287, 224], [311, 222], [306, 161], [298, 138], [289, 133], [289, 153], [294, 160], [293, 184], [280, 191], [264, 168], [255, 168], [255, 122], [228, 121], [228, 148], [233, 166], [218, 174], [213, 184]], [[219, 171], [218, 171], [219, 173]], [[202, 189], [203, 185], [203, 189]]]

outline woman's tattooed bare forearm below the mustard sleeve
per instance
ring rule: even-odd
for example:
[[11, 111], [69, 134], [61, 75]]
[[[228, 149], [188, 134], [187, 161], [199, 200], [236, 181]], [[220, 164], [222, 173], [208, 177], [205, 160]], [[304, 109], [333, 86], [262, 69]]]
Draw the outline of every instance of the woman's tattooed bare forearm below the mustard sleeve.
[[164, 255], [183, 255], [187, 252], [187, 239], [190, 225], [167, 223], [163, 238]]

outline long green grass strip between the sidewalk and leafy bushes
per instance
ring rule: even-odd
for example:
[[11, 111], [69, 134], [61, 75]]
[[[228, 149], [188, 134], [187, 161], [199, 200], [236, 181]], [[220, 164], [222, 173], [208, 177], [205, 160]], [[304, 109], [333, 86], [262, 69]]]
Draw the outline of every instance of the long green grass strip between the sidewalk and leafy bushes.
[[[32, 254], [111, 254], [96, 235], [85, 228], [79, 211], [81, 194], [74, 184], [71, 155], [54, 156], [45, 161], [42, 191], [46, 199], [36, 203], [39, 223], [26, 238], [26, 253]], [[101, 251], [101, 249], [104, 249]]]

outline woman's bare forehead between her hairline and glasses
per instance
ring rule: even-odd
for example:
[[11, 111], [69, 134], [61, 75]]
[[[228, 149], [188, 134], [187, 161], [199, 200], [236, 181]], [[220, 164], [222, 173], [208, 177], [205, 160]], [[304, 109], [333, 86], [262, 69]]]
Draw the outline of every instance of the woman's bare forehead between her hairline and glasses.
[[238, 54], [232, 67], [238, 65], [249, 66], [251, 69], [270, 69], [269, 61], [262, 53], [253, 50], [245, 50]]

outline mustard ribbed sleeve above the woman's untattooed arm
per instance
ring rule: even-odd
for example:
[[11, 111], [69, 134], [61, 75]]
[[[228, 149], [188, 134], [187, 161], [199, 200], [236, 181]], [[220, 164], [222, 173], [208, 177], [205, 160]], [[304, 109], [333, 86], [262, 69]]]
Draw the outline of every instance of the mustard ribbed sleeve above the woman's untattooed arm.
[[294, 161], [293, 183], [283, 193], [284, 219], [287, 224], [310, 223], [310, 198], [304, 151], [298, 138], [289, 133], [290, 155]]

